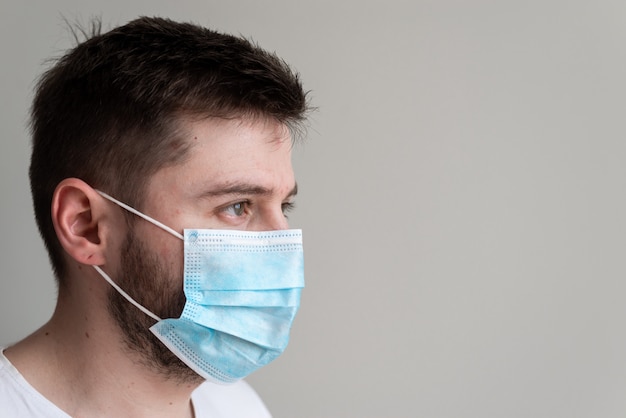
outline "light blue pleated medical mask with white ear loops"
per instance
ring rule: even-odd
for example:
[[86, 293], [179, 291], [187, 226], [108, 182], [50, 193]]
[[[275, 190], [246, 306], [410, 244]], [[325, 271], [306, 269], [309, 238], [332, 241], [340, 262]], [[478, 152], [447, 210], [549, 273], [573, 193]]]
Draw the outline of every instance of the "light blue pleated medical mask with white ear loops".
[[289, 341], [304, 287], [302, 232], [172, 228], [98, 192], [184, 242], [180, 318], [161, 319], [124, 298], [157, 323], [150, 331], [187, 366], [217, 383], [236, 382], [278, 357]]

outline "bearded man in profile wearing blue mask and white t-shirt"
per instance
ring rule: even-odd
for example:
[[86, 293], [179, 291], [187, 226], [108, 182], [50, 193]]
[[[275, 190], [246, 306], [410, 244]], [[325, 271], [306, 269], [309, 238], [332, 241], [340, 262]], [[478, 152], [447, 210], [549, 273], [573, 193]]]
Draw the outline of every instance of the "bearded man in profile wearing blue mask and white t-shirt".
[[240, 379], [285, 348], [304, 285], [285, 213], [306, 94], [237, 37], [159, 18], [94, 32], [33, 102], [58, 302], [3, 350], [2, 413], [268, 416]]

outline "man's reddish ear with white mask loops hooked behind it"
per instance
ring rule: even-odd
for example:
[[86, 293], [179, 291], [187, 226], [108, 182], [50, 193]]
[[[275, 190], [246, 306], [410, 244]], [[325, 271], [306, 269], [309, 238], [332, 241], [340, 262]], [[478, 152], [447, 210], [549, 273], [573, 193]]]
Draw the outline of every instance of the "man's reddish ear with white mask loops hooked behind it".
[[105, 264], [103, 227], [107, 222], [102, 197], [87, 183], [67, 178], [52, 196], [52, 223], [65, 251], [81, 264]]

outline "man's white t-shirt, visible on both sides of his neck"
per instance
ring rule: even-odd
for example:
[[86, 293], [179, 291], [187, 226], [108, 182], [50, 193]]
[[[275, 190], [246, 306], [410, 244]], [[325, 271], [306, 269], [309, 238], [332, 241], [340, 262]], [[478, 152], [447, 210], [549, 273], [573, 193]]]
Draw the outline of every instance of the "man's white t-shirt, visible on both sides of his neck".
[[[196, 418], [270, 418], [254, 389], [246, 382], [222, 386], [201, 384], [191, 395]], [[0, 418], [70, 418], [32, 387], [0, 348]]]

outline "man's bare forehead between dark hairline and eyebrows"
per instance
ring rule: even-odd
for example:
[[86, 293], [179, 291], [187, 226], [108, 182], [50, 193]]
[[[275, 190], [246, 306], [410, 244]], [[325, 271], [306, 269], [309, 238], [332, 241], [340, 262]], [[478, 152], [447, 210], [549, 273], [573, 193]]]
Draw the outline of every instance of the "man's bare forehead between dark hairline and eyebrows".
[[289, 129], [265, 119], [186, 120], [181, 134], [187, 157], [159, 170], [148, 189], [202, 192], [214, 184], [245, 182], [268, 189], [292, 188]]

